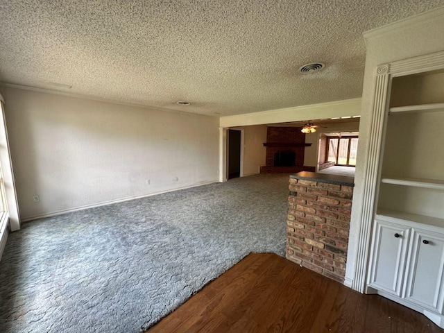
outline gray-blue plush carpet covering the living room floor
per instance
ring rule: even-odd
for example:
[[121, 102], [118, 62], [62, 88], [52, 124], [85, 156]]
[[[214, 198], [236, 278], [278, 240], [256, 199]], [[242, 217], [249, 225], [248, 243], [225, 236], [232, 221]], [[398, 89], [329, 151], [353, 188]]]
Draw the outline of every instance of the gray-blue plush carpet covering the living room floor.
[[284, 255], [287, 175], [24, 223], [0, 262], [0, 332], [139, 332], [248, 253]]

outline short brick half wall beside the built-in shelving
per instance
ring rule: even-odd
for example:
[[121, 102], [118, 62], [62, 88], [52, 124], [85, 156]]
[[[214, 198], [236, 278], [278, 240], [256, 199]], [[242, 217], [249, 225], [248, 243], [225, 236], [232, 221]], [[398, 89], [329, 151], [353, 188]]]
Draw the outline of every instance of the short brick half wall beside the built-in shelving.
[[[286, 257], [343, 283], [352, 207], [352, 178], [290, 176]], [[339, 180], [344, 180], [339, 181]]]

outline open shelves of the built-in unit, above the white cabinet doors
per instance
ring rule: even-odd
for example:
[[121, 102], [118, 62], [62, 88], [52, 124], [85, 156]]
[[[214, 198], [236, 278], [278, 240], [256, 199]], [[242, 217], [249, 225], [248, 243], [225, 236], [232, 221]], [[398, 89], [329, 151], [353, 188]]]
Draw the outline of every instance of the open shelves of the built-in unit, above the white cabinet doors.
[[390, 90], [377, 213], [444, 219], [444, 71], [394, 76]]

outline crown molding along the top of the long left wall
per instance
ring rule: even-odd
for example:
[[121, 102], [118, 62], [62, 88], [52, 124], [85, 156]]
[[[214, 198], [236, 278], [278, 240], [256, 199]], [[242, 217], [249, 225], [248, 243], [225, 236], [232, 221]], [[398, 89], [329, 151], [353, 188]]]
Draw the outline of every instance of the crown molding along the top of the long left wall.
[[58, 90], [39, 88], [39, 87], [31, 87], [28, 85], [16, 85], [14, 83], [0, 82], [0, 86], [8, 87], [8, 88], [15, 88], [15, 89], [22, 89], [22, 90], [29, 90], [31, 92], [43, 92], [45, 94], [55, 94], [55, 95], [73, 97], [74, 99], [87, 99], [89, 101], [97, 101], [97, 102], [112, 103], [112, 104], [118, 104], [118, 105], [133, 106], [135, 108], [144, 108], [144, 109], [153, 110], [153, 111], [164, 110], [164, 111], [173, 112], [173, 113], [188, 114], [190, 116], [219, 117], [219, 116], [210, 115], [210, 114], [200, 114], [200, 113], [185, 112], [185, 111], [180, 111], [180, 110], [175, 110], [175, 109], [170, 109], [170, 108], [161, 108], [161, 107], [157, 107], [157, 106], [153, 106], [153, 105], [146, 105], [146, 104], [142, 104], [142, 103], [118, 101], [115, 99], [102, 99], [100, 97], [95, 97], [95, 96], [74, 94], [72, 92], [60, 92]]

